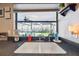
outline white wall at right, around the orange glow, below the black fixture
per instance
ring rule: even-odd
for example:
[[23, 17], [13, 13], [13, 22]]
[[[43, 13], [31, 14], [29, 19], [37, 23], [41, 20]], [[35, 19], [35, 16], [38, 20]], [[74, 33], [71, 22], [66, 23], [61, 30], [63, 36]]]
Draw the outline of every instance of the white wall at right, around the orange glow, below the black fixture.
[[68, 30], [68, 26], [74, 23], [79, 23], [79, 9], [75, 12], [69, 11], [66, 16], [59, 14], [59, 36], [72, 40], [72, 34]]

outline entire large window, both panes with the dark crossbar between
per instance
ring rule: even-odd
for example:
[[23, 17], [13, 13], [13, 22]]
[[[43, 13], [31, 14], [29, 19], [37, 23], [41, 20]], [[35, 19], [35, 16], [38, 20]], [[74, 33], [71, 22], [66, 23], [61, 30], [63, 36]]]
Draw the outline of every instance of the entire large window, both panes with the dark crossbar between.
[[17, 12], [16, 16], [20, 36], [48, 36], [56, 32], [56, 12]]

